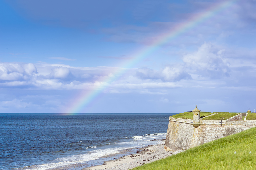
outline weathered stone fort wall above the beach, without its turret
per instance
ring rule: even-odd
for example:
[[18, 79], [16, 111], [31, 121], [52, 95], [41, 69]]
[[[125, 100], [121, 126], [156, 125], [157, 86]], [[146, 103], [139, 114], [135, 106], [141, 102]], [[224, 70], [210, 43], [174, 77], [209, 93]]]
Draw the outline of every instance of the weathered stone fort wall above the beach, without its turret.
[[170, 117], [165, 150], [186, 150], [204, 143], [256, 127], [255, 120], [242, 120], [242, 113], [227, 120], [202, 120], [194, 127], [191, 119]]

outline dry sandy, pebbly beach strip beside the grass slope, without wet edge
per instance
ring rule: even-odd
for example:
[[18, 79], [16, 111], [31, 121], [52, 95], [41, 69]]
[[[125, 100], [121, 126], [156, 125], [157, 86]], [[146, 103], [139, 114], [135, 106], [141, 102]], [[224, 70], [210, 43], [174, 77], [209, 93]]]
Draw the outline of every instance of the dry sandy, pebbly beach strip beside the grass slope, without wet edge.
[[102, 165], [91, 166], [83, 168], [83, 170], [100, 170], [100, 169], [110, 169], [110, 170], [126, 170], [132, 169], [137, 166], [141, 166], [145, 163], [150, 163], [168, 156], [182, 152], [182, 150], [171, 152], [166, 152], [164, 150], [164, 141], [161, 144], [151, 145], [141, 148], [135, 154], [126, 155], [119, 159], [105, 161]]

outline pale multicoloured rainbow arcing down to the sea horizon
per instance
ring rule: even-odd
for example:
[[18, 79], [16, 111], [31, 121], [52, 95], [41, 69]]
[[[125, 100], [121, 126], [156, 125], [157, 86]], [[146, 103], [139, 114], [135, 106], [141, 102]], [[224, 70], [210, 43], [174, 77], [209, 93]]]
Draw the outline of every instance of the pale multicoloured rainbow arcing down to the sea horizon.
[[64, 113], [74, 114], [74, 113], [80, 113], [83, 111], [85, 107], [87, 107], [89, 104], [91, 104], [93, 101], [96, 101], [97, 98], [99, 98], [102, 95], [103, 90], [105, 90], [111, 82], [115, 81], [123, 75], [126, 72], [125, 68], [131, 68], [136, 63], [139, 63], [142, 61], [145, 57], [147, 57], [149, 54], [151, 54], [153, 51], [155, 51], [159, 46], [165, 44], [166, 42], [173, 40], [174, 38], [178, 37], [182, 33], [187, 32], [191, 28], [196, 27], [196, 25], [202, 23], [206, 19], [211, 18], [212, 16], [216, 15], [218, 12], [223, 11], [227, 7], [231, 6], [236, 2], [237, 0], [231, 0], [231, 1], [224, 1], [219, 4], [216, 4], [215, 6], [212, 6], [209, 8], [206, 12], [194, 15], [190, 18], [189, 21], [177, 24], [175, 27], [173, 27], [171, 30], [169, 30], [167, 33], [161, 34], [155, 38], [154, 41], [152, 41], [149, 45], [147, 45], [144, 48], [141, 48], [140, 50], [136, 51], [132, 56], [129, 62], [125, 60], [125, 63], [121, 63], [120, 68], [116, 68], [114, 72], [112, 72], [112, 75], [107, 77], [97, 85], [97, 83], [92, 86], [90, 90], [86, 90], [82, 92], [79, 96], [76, 97], [76, 100], [72, 101], [70, 107], [68, 110], [63, 111]]

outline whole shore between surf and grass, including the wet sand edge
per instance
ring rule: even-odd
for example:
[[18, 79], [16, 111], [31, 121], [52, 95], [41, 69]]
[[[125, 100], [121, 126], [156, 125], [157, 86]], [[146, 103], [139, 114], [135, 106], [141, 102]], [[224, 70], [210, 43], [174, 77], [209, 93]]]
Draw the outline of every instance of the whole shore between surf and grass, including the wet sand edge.
[[165, 139], [161, 141], [156, 145], [119, 150], [119, 153], [102, 156], [87, 163], [71, 164], [65, 167], [52, 168], [51, 170], [128, 170], [183, 151], [165, 151]]

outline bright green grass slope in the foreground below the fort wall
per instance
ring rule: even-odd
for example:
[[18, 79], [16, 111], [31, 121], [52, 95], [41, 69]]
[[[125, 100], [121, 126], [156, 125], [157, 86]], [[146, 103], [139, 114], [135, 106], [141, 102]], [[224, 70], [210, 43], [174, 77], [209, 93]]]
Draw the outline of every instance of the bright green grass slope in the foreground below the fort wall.
[[133, 170], [256, 169], [256, 128], [220, 138]]

